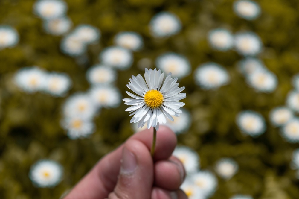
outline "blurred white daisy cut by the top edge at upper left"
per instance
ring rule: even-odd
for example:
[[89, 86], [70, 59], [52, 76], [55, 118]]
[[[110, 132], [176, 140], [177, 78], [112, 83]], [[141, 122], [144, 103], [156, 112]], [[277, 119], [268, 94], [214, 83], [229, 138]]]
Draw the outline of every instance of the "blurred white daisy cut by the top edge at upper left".
[[62, 0], [38, 0], [33, 5], [34, 13], [42, 19], [55, 19], [64, 16], [68, 7]]

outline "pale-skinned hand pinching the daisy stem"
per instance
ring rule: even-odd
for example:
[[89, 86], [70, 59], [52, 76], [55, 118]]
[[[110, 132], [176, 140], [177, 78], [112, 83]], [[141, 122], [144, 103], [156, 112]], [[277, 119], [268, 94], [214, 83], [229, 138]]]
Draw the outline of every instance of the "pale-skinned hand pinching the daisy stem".
[[179, 189], [184, 167], [171, 156], [175, 134], [160, 126], [153, 158], [152, 137], [152, 128], [131, 136], [100, 159], [65, 199], [187, 199]]

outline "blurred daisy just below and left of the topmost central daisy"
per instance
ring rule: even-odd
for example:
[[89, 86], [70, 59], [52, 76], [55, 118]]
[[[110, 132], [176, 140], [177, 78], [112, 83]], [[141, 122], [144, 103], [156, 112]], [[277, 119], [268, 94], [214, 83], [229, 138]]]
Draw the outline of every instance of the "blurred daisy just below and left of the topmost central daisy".
[[138, 51], [143, 46], [143, 39], [135, 32], [120, 32], [114, 37], [114, 42], [123, 48]]

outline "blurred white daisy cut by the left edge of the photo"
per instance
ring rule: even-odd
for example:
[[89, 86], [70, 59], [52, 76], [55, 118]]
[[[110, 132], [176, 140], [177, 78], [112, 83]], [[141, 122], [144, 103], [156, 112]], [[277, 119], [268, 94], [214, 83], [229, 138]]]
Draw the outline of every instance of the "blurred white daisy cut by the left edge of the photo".
[[19, 34], [16, 29], [0, 25], [0, 49], [13, 47], [19, 42]]

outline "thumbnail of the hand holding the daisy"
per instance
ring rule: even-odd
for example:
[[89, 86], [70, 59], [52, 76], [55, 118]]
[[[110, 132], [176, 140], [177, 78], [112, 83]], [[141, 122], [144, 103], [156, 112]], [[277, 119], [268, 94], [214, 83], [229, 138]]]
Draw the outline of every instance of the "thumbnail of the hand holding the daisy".
[[120, 173], [122, 174], [132, 174], [137, 167], [137, 161], [135, 155], [126, 149], [123, 148], [123, 157], [121, 160]]

